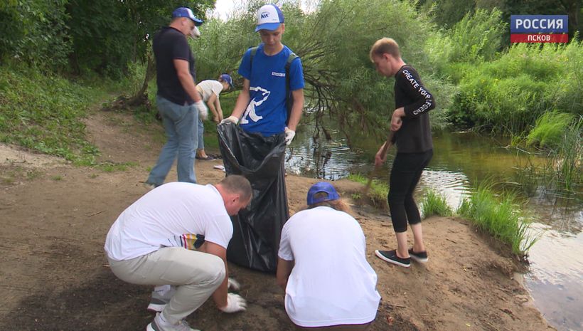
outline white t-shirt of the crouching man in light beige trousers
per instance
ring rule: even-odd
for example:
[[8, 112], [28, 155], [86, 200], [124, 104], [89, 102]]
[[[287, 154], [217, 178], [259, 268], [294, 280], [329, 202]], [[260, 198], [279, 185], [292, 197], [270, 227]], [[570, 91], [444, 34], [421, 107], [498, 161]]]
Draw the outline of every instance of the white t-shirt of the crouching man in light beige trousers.
[[213, 185], [171, 182], [149, 191], [119, 215], [107, 233], [105, 253], [115, 261], [162, 247], [193, 249], [197, 235], [227, 248], [231, 219]]

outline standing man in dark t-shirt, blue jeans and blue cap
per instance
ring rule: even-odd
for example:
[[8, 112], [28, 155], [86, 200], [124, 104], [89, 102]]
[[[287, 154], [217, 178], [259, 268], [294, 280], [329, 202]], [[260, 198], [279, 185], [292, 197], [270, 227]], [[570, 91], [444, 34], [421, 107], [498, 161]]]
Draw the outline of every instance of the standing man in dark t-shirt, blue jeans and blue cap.
[[172, 13], [169, 26], [154, 36], [152, 48], [156, 58], [156, 106], [162, 116], [168, 141], [162, 147], [156, 166], [146, 186], [154, 188], [164, 179], [178, 154], [178, 182], [196, 183], [194, 149], [197, 145], [198, 117], [205, 119], [208, 110], [196, 91], [194, 56], [186, 36], [196, 36], [203, 21], [191, 9], [179, 7]]

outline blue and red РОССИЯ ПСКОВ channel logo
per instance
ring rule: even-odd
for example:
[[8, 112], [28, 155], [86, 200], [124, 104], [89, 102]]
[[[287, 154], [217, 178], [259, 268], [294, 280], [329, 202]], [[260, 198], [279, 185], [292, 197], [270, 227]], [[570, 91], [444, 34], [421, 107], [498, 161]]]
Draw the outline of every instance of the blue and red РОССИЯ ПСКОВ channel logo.
[[567, 15], [511, 15], [510, 43], [567, 43]]

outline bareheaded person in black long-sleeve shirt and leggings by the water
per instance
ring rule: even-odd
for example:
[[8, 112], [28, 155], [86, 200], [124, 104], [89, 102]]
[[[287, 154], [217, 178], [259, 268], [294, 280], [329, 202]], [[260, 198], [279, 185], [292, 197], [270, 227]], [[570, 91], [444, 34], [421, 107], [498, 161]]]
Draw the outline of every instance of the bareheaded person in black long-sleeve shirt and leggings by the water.
[[[370, 60], [385, 77], [395, 77], [395, 110], [392, 112], [392, 142], [397, 145], [397, 156], [392, 164], [388, 202], [392, 226], [397, 236], [397, 249], [375, 251], [379, 258], [408, 268], [413, 260], [426, 263], [427, 251], [423, 243], [421, 216], [413, 199], [413, 192], [423, 169], [433, 156], [429, 110], [435, 100], [419, 79], [419, 74], [400, 56], [399, 45], [392, 38], [378, 40], [370, 49]], [[386, 151], [386, 149], [384, 149]], [[375, 156], [375, 165], [385, 162], [383, 146]], [[407, 246], [407, 221], [413, 231], [412, 248]]]

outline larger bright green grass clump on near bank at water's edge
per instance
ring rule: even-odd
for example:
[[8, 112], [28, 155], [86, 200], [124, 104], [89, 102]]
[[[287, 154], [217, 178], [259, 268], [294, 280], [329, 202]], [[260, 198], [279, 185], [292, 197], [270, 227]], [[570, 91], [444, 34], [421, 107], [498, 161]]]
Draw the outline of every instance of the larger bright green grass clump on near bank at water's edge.
[[531, 221], [525, 216], [522, 206], [513, 194], [496, 196], [492, 184], [485, 182], [474, 188], [456, 212], [472, 221], [480, 231], [490, 233], [510, 246], [514, 254], [523, 257], [536, 238], [529, 235]]

